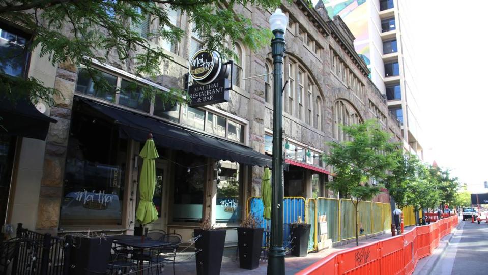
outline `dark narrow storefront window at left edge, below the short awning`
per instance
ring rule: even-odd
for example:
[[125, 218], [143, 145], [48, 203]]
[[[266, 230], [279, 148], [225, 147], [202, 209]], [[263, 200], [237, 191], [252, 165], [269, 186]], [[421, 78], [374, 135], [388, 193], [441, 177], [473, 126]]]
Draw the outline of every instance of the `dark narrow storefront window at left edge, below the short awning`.
[[15, 136], [0, 135], [0, 227], [3, 226], [7, 215], [16, 139]]

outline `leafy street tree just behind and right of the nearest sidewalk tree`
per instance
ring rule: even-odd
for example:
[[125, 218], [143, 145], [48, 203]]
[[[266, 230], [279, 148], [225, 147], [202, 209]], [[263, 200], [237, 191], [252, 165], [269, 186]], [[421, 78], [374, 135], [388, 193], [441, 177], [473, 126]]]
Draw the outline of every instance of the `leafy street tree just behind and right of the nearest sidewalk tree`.
[[390, 169], [387, 176], [381, 181], [388, 189], [388, 193], [395, 200], [398, 208], [408, 205], [407, 193], [412, 182], [418, 180], [417, 171], [421, 168], [422, 163], [417, 156], [404, 153], [402, 150], [394, 152], [396, 166]]

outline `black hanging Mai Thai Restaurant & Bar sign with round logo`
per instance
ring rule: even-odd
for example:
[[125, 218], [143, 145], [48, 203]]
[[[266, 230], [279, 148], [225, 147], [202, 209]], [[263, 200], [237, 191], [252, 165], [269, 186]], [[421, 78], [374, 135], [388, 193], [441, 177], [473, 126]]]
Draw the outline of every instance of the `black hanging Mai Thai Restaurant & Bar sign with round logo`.
[[229, 101], [227, 79], [231, 65], [223, 63], [220, 53], [201, 49], [190, 59], [189, 73], [194, 84], [188, 87], [190, 106], [205, 106]]

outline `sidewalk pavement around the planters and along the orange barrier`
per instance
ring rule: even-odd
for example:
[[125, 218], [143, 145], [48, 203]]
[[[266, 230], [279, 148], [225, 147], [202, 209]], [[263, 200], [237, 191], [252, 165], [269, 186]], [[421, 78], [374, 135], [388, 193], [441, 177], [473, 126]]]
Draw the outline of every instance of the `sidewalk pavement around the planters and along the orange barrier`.
[[[406, 227], [405, 231], [410, 231], [414, 228], [414, 226]], [[386, 239], [391, 237], [391, 231], [388, 230], [383, 234], [376, 235], [376, 236], [366, 236], [364, 239], [359, 240], [359, 245], [364, 245], [366, 243], [375, 242], [378, 240]], [[345, 243], [346, 242], [346, 243]], [[337, 251], [345, 250], [348, 248], [352, 248], [356, 246], [356, 239], [350, 239], [347, 241], [343, 241], [341, 245], [336, 246], [331, 249], [324, 249], [317, 253], [309, 253], [307, 257], [294, 257], [294, 256], [286, 256], [285, 258], [285, 270], [286, 274], [295, 274], [296, 272], [306, 268], [307, 266], [319, 261], [320, 259], [326, 257], [329, 254], [332, 254]], [[243, 274], [243, 275], [258, 275], [258, 274], [266, 274], [268, 264], [266, 261], [261, 261], [259, 268], [254, 270], [247, 270], [239, 268], [239, 260], [236, 259], [236, 247], [227, 248], [224, 250], [224, 256], [222, 258], [222, 267], [220, 269], [221, 275], [231, 275], [231, 274]], [[190, 256], [190, 253], [183, 253], [185, 255], [181, 255], [181, 259], [176, 259], [176, 273], [179, 275], [193, 275], [196, 274], [196, 264], [195, 264], [195, 257]], [[166, 274], [173, 274], [173, 266], [166, 265], [163, 275]]]

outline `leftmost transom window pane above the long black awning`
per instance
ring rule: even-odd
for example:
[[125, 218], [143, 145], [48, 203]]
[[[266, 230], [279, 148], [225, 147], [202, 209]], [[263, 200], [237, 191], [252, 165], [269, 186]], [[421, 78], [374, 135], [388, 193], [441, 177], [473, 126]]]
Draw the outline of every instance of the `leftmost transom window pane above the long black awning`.
[[[92, 77], [98, 81], [93, 82]], [[102, 89], [99, 85], [108, 85], [110, 88]], [[78, 71], [78, 81], [76, 81], [76, 91], [93, 97], [115, 102], [115, 89], [117, 87], [117, 76], [85, 68]]]

